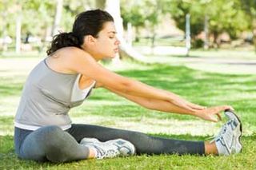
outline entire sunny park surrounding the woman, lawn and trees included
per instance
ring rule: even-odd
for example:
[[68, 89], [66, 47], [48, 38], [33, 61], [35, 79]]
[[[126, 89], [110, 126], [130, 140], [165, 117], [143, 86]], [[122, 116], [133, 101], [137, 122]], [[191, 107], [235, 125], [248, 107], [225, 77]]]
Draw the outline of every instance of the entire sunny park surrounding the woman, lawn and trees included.
[[[23, 83], [46, 57], [55, 34], [70, 32], [76, 14], [104, 9], [122, 42], [108, 69], [178, 93], [200, 105], [232, 105], [242, 119], [244, 149], [234, 156], [132, 156], [68, 164], [19, 160], [14, 114]], [[255, 0], [1, 0], [1, 169], [255, 169]], [[74, 123], [104, 125], [184, 140], [207, 140], [225, 122], [160, 113], [96, 89], [71, 111]]]

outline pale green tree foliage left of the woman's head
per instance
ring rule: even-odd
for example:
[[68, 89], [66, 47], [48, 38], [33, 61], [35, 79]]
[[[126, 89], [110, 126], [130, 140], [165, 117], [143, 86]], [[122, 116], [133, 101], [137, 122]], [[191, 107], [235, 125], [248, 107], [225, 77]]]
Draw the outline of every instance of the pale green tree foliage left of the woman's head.
[[[70, 31], [74, 17], [85, 10], [87, 1], [64, 0], [61, 27], [63, 31]], [[54, 22], [56, 1], [40, 0], [2, 0], [0, 2], [0, 26], [6, 34], [15, 37], [15, 18], [22, 17], [22, 35], [31, 34], [44, 38], [46, 30]], [[3, 31], [0, 32], [2, 37]]]

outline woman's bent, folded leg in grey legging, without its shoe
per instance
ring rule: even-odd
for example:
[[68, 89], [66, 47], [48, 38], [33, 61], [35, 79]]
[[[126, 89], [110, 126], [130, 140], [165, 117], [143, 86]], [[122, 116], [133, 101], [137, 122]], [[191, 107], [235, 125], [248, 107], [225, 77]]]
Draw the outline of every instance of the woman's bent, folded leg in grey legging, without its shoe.
[[21, 128], [15, 128], [15, 150], [19, 157], [26, 160], [65, 162], [82, 160], [89, 156], [89, 148], [78, 144], [73, 136], [58, 126], [45, 126], [22, 137]]

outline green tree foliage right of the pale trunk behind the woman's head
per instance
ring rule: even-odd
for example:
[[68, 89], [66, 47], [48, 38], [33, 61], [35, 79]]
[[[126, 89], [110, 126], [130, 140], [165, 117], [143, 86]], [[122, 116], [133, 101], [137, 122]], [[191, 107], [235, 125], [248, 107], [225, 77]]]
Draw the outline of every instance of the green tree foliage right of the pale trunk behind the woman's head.
[[256, 16], [256, 0], [122, 0], [122, 4], [124, 25], [130, 22], [137, 28], [146, 24], [154, 27], [163, 15], [170, 14], [178, 28], [185, 31], [186, 14], [190, 14], [192, 38], [204, 30], [206, 16], [209, 18], [210, 34], [214, 38], [223, 32], [230, 34], [231, 38], [238, 38], [242, 31], [252, 25], [248, 14], [254, 18]]

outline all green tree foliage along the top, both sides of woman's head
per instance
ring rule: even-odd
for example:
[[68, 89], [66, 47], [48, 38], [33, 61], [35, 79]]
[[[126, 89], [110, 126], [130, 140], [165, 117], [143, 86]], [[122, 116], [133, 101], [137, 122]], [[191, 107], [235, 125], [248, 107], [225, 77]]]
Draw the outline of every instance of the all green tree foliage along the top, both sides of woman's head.
[[[74, 17], [95, 5], [96, 0], [64, 0], [61, 27], [70, 31]], [[43, 38], [54, 22], [56, 1], [1, 0], [0, 36], [15, 37], [15, 20], [22, 16], [22, 35], [32, 34]], [[185, 30], [185, 16], [190, 14], [192, 38], [204, 29], [204, 19], [209, 18], [210, 34], [222, 32], [237, 38], [243, 30], [256, 28], [256, 0], [121, 0], [124, 26], [130, 22], [137, 29], [146, 27], [154, 34], [154, 28], [162, 22], [162, 16], [170, 14], [181, 30]]]

